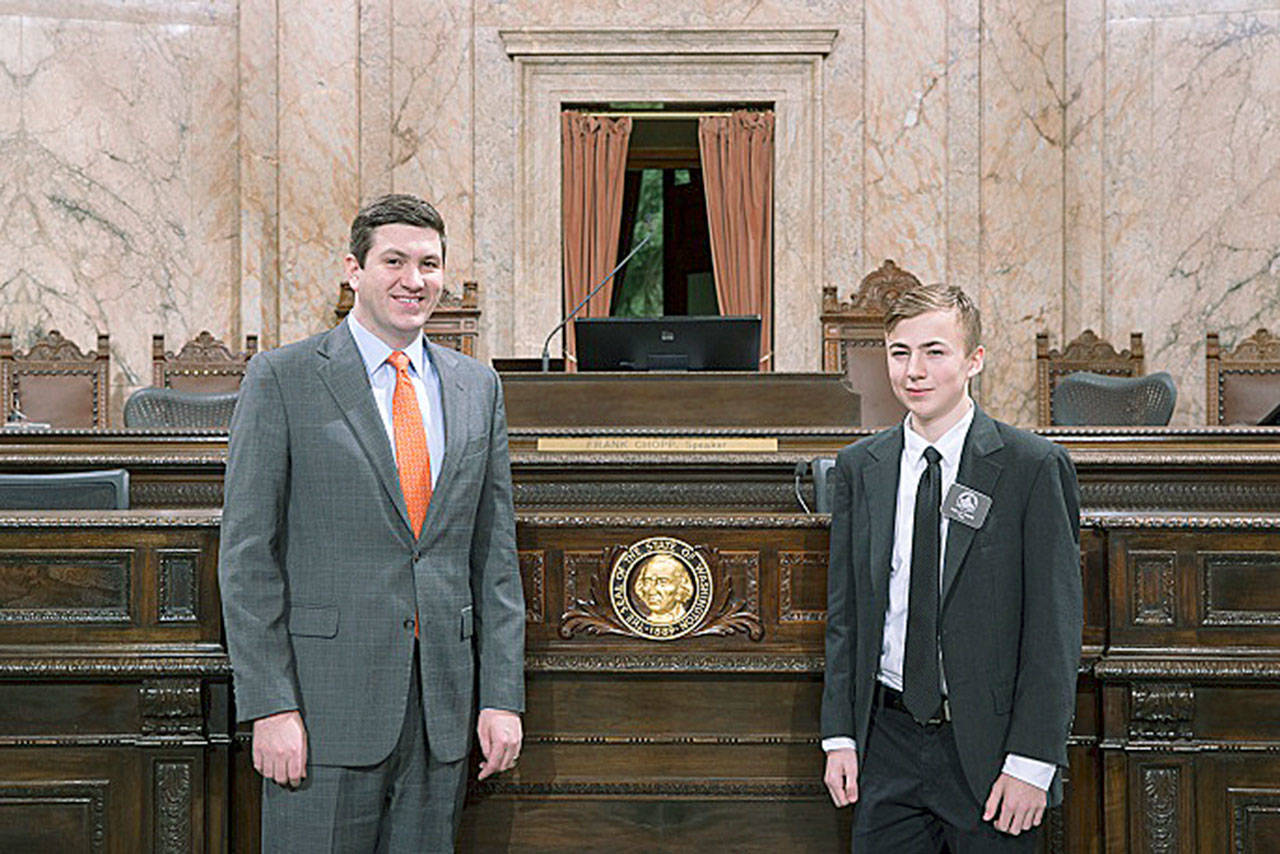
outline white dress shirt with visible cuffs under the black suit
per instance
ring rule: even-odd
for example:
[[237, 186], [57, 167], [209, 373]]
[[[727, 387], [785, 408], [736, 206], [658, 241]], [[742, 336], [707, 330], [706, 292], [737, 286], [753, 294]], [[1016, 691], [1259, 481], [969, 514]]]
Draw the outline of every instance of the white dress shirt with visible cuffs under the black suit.
[[[956, 481], [960, 471], [960, 455], [973, 424], [974, 406], [968, 401], [969, 410], [951, 429], [943, 433], [933, 448], [942, 456], [942, 497]], [[893, 557], [888, 576], [888, 607], [884, 609], [884, 635], [881, 645], [878, 679], [896, 691], [902, 690], [902, 659], [906, 656], [906, 608], [911, 595], [911, 538], [915, 534], [915, 493], [920, 485], [920, 475], [928, 466], [924, 449], [929, 440], [911, 429], [911, 416], [902, 424], [902, 456], [897, 471], [897, 507], [893, 513]], [[942, 517], [942, 530], [938, 549], [938, 589], [942, 589], [942, 567], [946, 566], [947, 529], [951, 524]], [[942, 694], [946, 695], [946, 662], [941, 662]], [[823, 750], [856, 748], [852, 737], [832, 736], [822, 740]], [[1048, 789], [1053, 780], [1056, 766], [1039, 759], [1010, 753], [1005, 757], [1004, 772], [1029, 782], [1039, 789]]]

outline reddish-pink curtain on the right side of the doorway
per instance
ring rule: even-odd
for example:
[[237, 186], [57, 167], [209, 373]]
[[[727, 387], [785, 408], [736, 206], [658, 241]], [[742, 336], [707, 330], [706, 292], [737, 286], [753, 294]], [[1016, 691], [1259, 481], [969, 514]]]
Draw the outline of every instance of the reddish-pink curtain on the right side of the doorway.
[[760, 367], [773, 367], [773, 111], [698, 119], [716, 296], [723, 315], [760, 315]]

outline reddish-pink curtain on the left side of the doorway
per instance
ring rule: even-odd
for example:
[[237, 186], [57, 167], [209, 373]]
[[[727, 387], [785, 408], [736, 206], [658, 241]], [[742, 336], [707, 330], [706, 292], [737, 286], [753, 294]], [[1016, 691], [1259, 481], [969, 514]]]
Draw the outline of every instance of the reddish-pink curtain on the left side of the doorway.
[[[627, 169], [631, 119], [561, 113], [563, 155], [564, 311], [586, 298], [618, 262], [618, 225]], [[605, 318], [613, 298], [609, 282], [579, 312]], [[566, 329], [564, 367], [573, 370], [573, 325]]]

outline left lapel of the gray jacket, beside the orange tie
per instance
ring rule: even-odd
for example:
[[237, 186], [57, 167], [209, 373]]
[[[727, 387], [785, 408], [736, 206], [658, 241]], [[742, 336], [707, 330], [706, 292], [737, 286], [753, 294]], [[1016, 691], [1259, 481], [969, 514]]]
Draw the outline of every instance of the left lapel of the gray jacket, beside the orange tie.
[[408, 508], [404, 506], [396, 457], [392, 456], [392, 443], [378, 414], [378, 405], [374, 403], [374, 392], [369, 385], [369, 374], [356, 347], [356, 339], [351, 337], [347, 325], [340, 324], [324, 337], [316, 353], [320, 357], [320, 379], [337, 401], [343, 417], [356, 434], [356, 440], [369, 457], [378, 480], [387, 490], [387, 497], [396, 506], [396, 512], [408, 530]]

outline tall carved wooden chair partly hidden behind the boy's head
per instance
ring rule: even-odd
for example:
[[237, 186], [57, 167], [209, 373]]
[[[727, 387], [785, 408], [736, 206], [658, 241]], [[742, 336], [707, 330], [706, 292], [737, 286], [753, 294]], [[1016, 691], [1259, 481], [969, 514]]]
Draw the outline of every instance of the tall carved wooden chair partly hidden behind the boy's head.
[[900, 293], [920, 280], [886, 260], [841, 302], [836, 288], [822, 289], [822, 369], [845, 375], [861, 397], [861, 426], [890, 426], [906, 415], [893, 397], [884, 361], [884, 311]]

